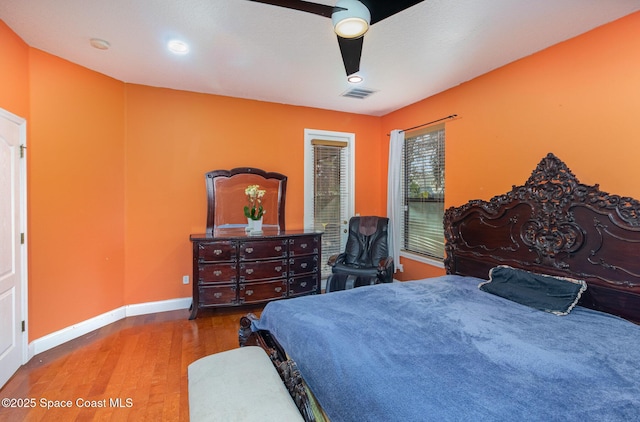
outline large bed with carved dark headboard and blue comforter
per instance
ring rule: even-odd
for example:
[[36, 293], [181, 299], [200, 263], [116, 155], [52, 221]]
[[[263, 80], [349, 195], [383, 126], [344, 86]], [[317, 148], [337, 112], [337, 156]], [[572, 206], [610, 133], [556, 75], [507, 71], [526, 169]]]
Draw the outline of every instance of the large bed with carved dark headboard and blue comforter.
[[445, 212], [447, 275], [247, 315], [306, 420], [640, 420], [640, 203], [553, 154]]

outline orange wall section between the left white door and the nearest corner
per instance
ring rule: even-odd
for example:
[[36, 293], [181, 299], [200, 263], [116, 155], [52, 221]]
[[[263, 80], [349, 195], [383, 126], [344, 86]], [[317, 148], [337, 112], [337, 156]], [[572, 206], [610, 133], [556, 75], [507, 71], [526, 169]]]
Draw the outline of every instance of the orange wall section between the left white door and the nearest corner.
[[123, 305], [124, 84], [30, 50], [29, 336]]

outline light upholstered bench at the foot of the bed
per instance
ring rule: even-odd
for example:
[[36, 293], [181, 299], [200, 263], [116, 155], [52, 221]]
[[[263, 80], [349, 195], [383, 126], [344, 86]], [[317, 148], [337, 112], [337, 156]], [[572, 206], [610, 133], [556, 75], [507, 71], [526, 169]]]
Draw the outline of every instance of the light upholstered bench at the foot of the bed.
[[189, 365], [191, 422], [303, 421], [264, 350], [246, 346]]

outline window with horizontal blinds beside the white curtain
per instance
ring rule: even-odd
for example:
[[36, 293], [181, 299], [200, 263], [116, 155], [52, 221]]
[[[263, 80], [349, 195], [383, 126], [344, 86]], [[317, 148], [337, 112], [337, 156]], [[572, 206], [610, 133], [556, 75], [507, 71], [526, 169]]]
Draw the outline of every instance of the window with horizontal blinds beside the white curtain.
[[444, 258], [444, 125], [407, 133], [403, 160], [403, 250]]

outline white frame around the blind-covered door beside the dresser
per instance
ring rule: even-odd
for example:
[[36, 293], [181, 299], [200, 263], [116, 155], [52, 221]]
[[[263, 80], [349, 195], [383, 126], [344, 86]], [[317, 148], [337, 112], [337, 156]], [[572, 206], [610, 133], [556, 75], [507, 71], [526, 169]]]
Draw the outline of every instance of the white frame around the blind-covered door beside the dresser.
[[347, 174], [347, 215], [350, 217], [355, 212], [355, 169], [356, 169], [356, 135], [348, 132], [335, 132], [319, 129], [304, 130], [304, 227], [314, 229], [313, 219], [313, 193], [314, 193], [314, 173], [313, 173], [313, 139], [326, 139], [331, 141], [347, 142], [349, 152], [349, 173]]

